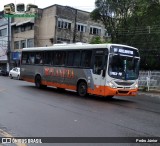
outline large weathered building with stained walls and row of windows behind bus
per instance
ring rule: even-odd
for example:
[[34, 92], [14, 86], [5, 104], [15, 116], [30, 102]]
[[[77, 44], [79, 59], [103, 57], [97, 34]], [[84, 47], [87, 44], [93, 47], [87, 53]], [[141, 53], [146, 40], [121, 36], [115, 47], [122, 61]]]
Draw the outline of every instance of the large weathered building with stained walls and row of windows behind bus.
[[43, 9], [39, 24], [38, 46], [64, 42], [89, 43], [95, 36], [108, 37], [104, 25], [91, 20], [89, 12], [69, 6], [53, 5]]

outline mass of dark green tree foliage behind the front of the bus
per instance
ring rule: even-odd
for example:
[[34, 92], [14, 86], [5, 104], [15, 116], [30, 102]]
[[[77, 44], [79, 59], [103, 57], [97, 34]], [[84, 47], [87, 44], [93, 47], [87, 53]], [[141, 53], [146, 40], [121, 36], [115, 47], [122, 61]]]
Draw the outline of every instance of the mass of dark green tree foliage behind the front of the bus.
[[113, 43], [139, 48], [141, 69], [160, 70], [160, 1], [96, 0], [91, 13], [111, 34]]

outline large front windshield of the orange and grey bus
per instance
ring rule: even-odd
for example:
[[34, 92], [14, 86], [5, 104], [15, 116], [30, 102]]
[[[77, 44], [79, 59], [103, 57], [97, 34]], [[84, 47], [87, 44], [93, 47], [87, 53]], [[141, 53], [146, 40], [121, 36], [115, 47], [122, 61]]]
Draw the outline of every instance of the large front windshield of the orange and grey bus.
[[120, 54], [109, 56], [109, 76], [116, 79], [135, 80], [138, 78], [139, 58]]

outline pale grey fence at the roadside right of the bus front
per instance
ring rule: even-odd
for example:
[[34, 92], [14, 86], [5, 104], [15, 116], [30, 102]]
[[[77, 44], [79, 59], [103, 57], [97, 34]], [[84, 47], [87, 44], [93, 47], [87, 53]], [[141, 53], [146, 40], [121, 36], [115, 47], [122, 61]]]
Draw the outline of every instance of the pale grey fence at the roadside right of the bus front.
[[160, 91], [160, 71], [140, 71], [139, 89]]

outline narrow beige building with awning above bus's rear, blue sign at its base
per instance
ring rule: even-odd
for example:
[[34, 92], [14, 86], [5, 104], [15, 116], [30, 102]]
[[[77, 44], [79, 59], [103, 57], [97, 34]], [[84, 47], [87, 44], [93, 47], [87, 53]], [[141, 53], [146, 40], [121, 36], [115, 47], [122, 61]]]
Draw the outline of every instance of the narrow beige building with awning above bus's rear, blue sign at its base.
[[12, 60], [14, 66], [20, 65], [22, 48], [34, 47], [35, 30], [34, 30], [35, 18], [32, 17], [14, 17], [12, 19]]

